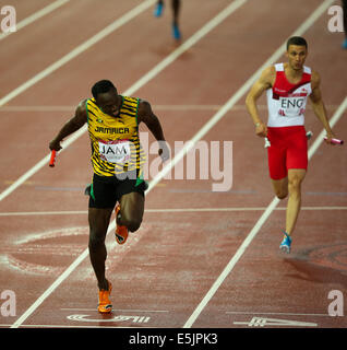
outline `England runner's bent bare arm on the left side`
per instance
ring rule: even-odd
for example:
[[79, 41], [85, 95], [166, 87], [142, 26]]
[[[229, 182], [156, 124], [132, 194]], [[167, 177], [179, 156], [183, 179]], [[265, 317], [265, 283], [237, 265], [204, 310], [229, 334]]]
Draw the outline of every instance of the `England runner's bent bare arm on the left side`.
[[268, 67], [264, 69], [260, 79], [254, 83], [254, 85], [251, 88], [250, 92], [246, 97], [247, 109], [251, 115], [253, 122], [255, 125], [255, 133], [260, 137], [265, 137], [267, 135], [267, 128], [266, 128], [266, 125], [262, 121], [262, 119], [259, 116], [256, 101], [265, 90], [272, 88], [274, 74], [275, 74], [274, 67]]

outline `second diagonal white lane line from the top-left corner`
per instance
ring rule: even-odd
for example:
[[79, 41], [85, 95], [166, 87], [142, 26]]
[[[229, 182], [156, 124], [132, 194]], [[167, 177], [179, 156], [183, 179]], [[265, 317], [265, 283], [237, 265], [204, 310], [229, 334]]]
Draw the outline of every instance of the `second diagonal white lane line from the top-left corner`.
[[147, 10], [149, 7], [152, 7], [155, 3], [156, 0], [146, 0], [143, 1], [140, 5], [133, 8], [131, 11], [123, 14], [121, 18], [117, 19], [113, 23], [92, 36], [89, 39], [84, 42], [83, 44], [75, 47], [73, 50], [71, 50], [69, 54], [57, 60], [55, 63], [50, 65], [43, 71], [40, 71], [38, 74], [34, 75], [32, 79], [27, 80], [25, 83], [20, 85], [19, 88], [14, 89], [12, 92], [10, 92], [8, 95], [2, 97], [0, 100], [0, 107], [3, 106], [5, 103], [10, 102], [21, 93], [25, 92], [27, 89], [35, 85], [37, 82], [43, 80], [44, 78], [50, 75], [52, 72], [55, 72], [57, 69], [61, 68], [88, 48], [91, 48], [96, 43], [104, 39], [106, 36], [121, 27], [122, 25], [127, 24], [129, 21], [133, 20], [135, 16]]

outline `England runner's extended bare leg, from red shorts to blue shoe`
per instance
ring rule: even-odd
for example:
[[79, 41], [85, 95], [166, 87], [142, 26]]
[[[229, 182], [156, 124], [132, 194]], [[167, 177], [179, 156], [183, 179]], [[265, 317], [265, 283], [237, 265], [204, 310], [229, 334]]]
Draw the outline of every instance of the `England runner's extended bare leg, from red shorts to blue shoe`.
[[297, 223], [301, 208], [301, 184], [306, 176], [303, 168], [288, 170], [288, 191], [289, 198], [286, 212], [286, 232], [290, 235]]

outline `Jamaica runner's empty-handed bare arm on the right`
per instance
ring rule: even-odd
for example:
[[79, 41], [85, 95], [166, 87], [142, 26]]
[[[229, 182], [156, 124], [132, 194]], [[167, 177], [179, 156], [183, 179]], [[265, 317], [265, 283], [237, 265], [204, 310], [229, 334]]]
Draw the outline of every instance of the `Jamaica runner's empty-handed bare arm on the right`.
[[159, 143], [159, 155], [161, 156], [163, 162], [167, 161], [170, 158], [170, 152], [166, 144], [163, 128], [158, 117], [153, 113], [151, 104], [147, 101], [140, 101], [137, 120], [139, 124], [143, 121], [151, 130]]

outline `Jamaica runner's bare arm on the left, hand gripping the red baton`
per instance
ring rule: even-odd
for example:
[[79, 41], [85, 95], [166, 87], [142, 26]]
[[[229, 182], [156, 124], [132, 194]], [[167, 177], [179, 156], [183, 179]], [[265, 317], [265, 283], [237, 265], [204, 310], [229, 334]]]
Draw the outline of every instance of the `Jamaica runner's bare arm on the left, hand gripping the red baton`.
[[49, 148], [51, 150], [60, 151], [61, 150], [60, 142], [69, 135], [82, 128], [86, 121], [87, 121], [87, 112], [85, 108], [85, 101], [82, 101], [75, 110], [74, 117], [69, 119], [64, 124], [64, 126], [60, 129], [58, 135], [49, 142]]

